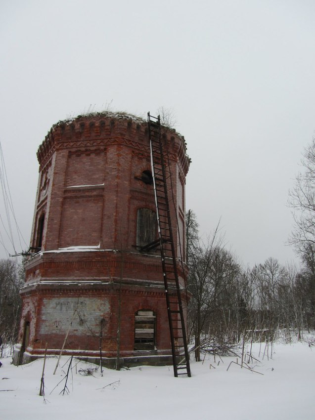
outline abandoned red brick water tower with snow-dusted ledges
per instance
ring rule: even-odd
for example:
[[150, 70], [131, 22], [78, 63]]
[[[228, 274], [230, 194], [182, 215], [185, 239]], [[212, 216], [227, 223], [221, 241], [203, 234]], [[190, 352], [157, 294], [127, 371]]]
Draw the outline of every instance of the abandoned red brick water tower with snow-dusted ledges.
[[[159, 130], [185, 316], [189, 158], [182, 136], [164, 126]], [[172, 364], [172, 345], [180, 339], [171, 336], [168, 319], [172, 303], [166, 304], [167, 269], [160, 253], [168, 241], [159, 242], [164, 228], [157, 223], [155, 188], [160, 181], [152, 173], [149, 140], [146, 121], [108, 112], [59, 122], [46, 135], [37, 154], [39, 182], [15, 364], [42, 356], [46, 345], [48, 355], [63, 349], [91, 361], [101, 356], [109, 367]], [[162, 262], [168, 259], [166, 249]]]

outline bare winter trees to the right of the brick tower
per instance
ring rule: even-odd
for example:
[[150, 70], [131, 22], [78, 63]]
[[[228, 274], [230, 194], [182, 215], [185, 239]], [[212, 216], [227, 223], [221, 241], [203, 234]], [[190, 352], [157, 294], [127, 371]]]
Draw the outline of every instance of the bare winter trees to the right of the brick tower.
[[281, 330], [288, 339], [315, 329], [315, 140], [305, 149], [303, 170], [289, 194], [294, 229], [289, 243], [301, 266], [282, 266], [268, 258], [243, 268], [226, 250], [219, 225], [202, 241], [196, 215], [186, 214], [188, 335], [195, 358], [209, 340], [224, 347], [241, 337], [272, 340]]

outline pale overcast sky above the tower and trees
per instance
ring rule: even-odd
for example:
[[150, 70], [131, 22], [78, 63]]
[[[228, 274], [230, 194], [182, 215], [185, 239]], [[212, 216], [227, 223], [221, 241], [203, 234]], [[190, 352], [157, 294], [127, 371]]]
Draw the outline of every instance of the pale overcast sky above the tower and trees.
[[288, 190], [315, 132], [314, 22], [313, 0], [1, 0], [0, 141], [27, 245], [50, 127], [109, 103], [144, 117], [164, 106], [192, 159], [200, 233], [221, 218], [245, 265], [291, 262]]

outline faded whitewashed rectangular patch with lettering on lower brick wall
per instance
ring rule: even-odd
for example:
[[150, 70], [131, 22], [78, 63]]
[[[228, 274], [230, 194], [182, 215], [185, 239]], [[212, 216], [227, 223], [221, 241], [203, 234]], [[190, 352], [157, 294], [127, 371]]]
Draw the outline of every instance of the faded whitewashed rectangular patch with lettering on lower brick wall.
[[109, 313], [106, 298], [55, 297], [44, 299], [41, 334], [64, 334], [71, 324], [71, 334], [97, 333], [100, 321]]

